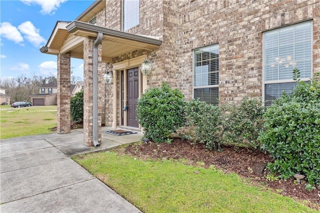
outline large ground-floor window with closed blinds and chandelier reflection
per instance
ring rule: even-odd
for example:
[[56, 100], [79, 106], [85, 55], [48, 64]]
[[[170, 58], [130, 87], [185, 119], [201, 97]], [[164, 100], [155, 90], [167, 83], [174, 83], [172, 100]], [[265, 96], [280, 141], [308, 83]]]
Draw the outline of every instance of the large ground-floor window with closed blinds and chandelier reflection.
[[289, 94], [294, 87], [293, 68], [308, 80], [312, 70], [312, 22], [297, 23], [263, 33], [263, 97], [265, 105]]

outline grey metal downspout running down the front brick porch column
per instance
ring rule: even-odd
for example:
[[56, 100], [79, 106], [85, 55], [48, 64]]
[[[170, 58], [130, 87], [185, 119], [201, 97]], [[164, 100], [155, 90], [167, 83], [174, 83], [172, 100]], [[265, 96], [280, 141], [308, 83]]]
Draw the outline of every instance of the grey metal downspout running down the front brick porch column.
[[93, 43], [92, 136], [94, 147], [100, 146], [98, 142], [98, 46], [102, 43], [102, 35], [102, 32], [98, 32]]

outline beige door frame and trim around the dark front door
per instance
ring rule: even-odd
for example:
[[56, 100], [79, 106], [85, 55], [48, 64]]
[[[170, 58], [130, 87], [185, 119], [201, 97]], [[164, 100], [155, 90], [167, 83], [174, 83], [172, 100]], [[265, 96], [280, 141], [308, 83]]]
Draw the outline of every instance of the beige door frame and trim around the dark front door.
[[[116, 128], [116, 123], [119, 123], [120, 125], [122, 124], [123, 126], [127, 126], [126, 123], [126, 111], [124, 111], [123, 113], [123, 123], [121, 123], [121, 113], [120, 111], [123, 110], [121, 107], [121, 84], [122, 84], [122, 80], [121, 80], [121, 71], [123, 70], [123, 82], [125, 82], [123, 84], [123, 97], [126, 97], [126, 89], [127, 89], [127, 85], [126, 85], [126, 70], [130, 69], [130, 68], [134, 68], [134, 67], [139, 67], [140, 64], [144, 61], [145, 58], [145, 54], [138, 56], [138, 57], [134, 57], [131, 59], [127, 59], [127, 60], [123, 60], [117, 63], [113, 63], [113, 69], [115, 74], [113, 75], [113, 121], [112, 121], [112, 128]], [[119, 75], [119, 81], [118, 84], [116, 85], [116, 76], [117, 74]], [[139, 70], [139, 76], [138, 76], [138, 98], [141, 97], [142, 92], [146, 89], [147, 86], [147, 76], [146, 75], [142, 75], [142, 73]], [[118, 90], [118, 93], [116, 92], [116, 90]], [[117, 99], [118, 97], [118, 99]], [[119, 111], [119, 113], [117, 114], [116, 111]], [[139, 124], [139, 128], [141, 128], [140, 124]]]

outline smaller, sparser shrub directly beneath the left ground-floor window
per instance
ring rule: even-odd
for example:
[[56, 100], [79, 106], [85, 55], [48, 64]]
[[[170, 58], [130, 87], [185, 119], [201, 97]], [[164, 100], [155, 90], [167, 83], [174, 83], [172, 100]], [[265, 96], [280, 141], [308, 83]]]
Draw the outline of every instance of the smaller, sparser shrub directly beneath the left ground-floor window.
[[204, 101], [190, 100], [185, 107], [186, 120], [195, 126], [195, 141], [207, 149], [221, 151], [221, 112], [218, 106]]

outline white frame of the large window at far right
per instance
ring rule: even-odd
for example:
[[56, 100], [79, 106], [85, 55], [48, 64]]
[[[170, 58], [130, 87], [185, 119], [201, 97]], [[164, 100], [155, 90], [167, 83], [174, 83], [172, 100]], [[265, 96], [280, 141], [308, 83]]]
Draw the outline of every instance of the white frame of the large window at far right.
[[[312, 64], [313, 64], [313, 61], [312, 61], [312, 51], [313, 51], [313, 48], [312, 48], [312, 45], [313, 45], [313, 40], [312, 40], [312, 36], [313, 36], [313, 22], [311, 20], [308, 20], [308, 21], [303, 21], [303, 22], [298, 22], [298, 23], [294, 23], [294, 24], [290, 24], [288, 26], [282, 26], [282, 27], [277, 27], [277, 28], [274, 28], [274, 29], [271, 29], [271, 30], [279, 30], [281, 28], [285, 28], [285, 27], [290, 27], [292, 25], [298, 25], [298, 24], [307, 24], [309, 23], [310, 24], [310, 28], [311, 28], [311, 33], [310, 33], [310, 44], [311, 44], [311, 48], [310, 48], [310, 65], [311, 65], [311, 68], [310, 68], [310, 77], [312, 77]], [[271, 30], [268, 30], [268, 31], [271, 31]], [[268, 31], [265, 31], [265, 32], [268, 32]], [[267, 84], [275, 84], [275, 83], [294, 83], [295, 81], [291, 78], [291, 79], [278, 79], [278, 80], [265, 80], [265, 68], [264, 68], [264, 65], [265, 65], [265, 47], [264, 47], [264, 44], [265, 44], [265, 32], [262, 33], [262, 102], [265, 101], [265, 85]], [[279, 45], [277, 45], [279, 46]], [[292, 71], [293, 71], [293, 68], [299, 68], [298, 65], [295, 67], [295, 65], [292, 66]], [[308, 81], [310, 79], [310, 77], [300, 77], [300, 79], [302, 81]], [[279, 91], [281, 93], [281, 91]]]

